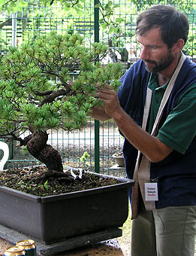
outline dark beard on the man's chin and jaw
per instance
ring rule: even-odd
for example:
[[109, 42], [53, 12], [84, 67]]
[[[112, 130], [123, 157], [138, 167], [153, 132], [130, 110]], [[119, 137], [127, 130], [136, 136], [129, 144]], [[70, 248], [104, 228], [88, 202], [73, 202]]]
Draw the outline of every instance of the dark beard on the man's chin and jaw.
[[[168, 50], [167, 56], [164, 57], [164, 59], [162, 59], [160, 63], [157, 63], [157, 62], [155, 62], [153, 60], [150, 60], [150, 59], [144, 59], [143, 61], [145, 63], [146, 70], [148, 72], [151, 72], [151, 73], [155, 74], [155, 73], [161, 72], [162, 70], [164, 70], [168, 66], [170, 66], [170, 63], [173, 62], [173, 59], [174, 59], [173, 54], [171, 54], [170, 50]], [[155, 66], [147, 66], [148, 62], [155, 64]]]

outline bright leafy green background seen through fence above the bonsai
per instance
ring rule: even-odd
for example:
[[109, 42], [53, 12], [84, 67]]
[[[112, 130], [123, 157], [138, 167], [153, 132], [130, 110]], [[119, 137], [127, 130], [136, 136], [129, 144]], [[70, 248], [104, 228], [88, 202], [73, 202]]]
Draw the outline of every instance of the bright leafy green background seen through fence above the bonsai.
[[[17, 44], [29, 38], [35, 38], [41, 32], [50, 30], [62, 32], [65, 29], [85, 34], [86, 40], [92, 43], [95, 40], [95, 29], [97, 29], [99, 40], [104, 41], [116, 51], [117, 59], [127, 61], [128, 54], [140, 56], [134, 35], [137, 14], [155, 4], [174, 5], [187, 14], [190, 32], [185, 53], [193, 57], [196, 47], [195, 0], [95, 0], [95, 2], [92, 0], [0, 0], [0, 11], [2, 11], [2, 17], [5, 17], [5, 20], [0, 23], [1, 51], [4, 52], [10, 44], [8, 26], [11, 26], [11, 14], [14, 13], [17, 14], [18, 23]], [[96, 9], [98, 9], [98, 18], [94, 15]], [[97, 20], [95, 19], [98, 19], [99, 23], [96, 28]]]

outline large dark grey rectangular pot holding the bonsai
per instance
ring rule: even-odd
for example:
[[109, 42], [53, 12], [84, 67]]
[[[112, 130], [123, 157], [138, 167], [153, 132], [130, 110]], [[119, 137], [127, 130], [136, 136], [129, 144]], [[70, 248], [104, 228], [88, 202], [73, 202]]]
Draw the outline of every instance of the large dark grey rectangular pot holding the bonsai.
[[121, 183], [50, 197], [0, 187], [0, 223], [45, 244], [122, 227], [128, 217], [128, 188], [134, 181], [117, 179]]

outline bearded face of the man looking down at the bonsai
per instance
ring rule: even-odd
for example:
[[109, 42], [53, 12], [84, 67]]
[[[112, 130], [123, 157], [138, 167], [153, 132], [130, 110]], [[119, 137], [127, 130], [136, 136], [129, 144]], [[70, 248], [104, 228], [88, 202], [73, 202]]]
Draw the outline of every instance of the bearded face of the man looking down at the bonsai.
[[137, 39], [141, 47], [140, 58], [143, 59], [148, 72], [164, 71], [173, 62], [173, 50], [168, 49], [167, 44], [162, 41], [159, 28], [152, 28], [144, 35], [138, 35]]

